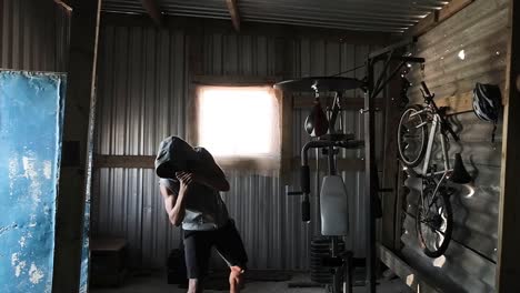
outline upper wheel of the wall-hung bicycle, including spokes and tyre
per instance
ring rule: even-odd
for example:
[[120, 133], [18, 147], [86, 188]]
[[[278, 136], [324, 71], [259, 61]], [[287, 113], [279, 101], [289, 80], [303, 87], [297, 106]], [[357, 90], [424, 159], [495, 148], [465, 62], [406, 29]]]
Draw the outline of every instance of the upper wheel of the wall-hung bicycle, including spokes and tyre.
[[423, 108], [414, 104], [402, 112], [398, 127], [399, 158], [407, 166], [417, 166], [424, 159], [428, 129], [426, 117], [417, 114]]

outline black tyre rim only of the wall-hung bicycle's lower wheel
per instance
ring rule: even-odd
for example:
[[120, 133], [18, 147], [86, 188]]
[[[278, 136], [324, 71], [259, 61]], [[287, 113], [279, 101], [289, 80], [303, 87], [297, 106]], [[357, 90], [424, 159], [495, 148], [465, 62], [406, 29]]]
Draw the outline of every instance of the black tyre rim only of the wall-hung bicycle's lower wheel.
[[417, 214], [416, 214], [416, 230], [417, 230], [417, 235], [419, 240], [419, 244], [423, 251], [423, 253], [432, 259], [437, 259], [444, 254], [444, 252], [448, 250], [448, 246], [450, 245], [451, 242], [451, 234], [453, 231], [453, 210], [451, 208], [450, 199], [449, 195], [446, 193], [444, 189], [439, 190], [439, 199], [442, 199], [443, 206], [446, 208], [446, 231], [443, 232], [443, 241], [442, 244], [432, 250], [430, 249], [426, 243], [424, 243], [424, 235], [421, 230], [421, 214], [420, 214], [420, 206], [421, 206], [421, 196], [418, 199], [417, 203]]

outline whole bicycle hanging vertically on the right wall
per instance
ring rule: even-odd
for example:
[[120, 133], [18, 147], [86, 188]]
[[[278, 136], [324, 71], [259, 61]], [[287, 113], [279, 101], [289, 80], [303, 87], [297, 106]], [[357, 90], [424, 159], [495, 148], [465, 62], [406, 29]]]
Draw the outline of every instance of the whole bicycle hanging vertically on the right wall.
[[[438, 108], [427, 84], [421, 82], [424, 105], [413, 104], [401, 114], [398, 127], [398, 151], [406, 171], [422, 180], [422, 192], [417, 203], [416, 229], [419, 243], [426, 255], [439, 257], [451, 240], [453, 214], [450, 195], [453, 191], [447, 185], [449, 181], [458, 184], [469, 183], [471, 176], [466, 171], [460, 153], [456, 153], [454, 168], [450, 168], [448, 156], [448, 134], [454, 141], [459, 137], [446, 118], [446, 108]], [[431, 124], [428, 129], [428, 124]], [[438, 171], [431, 164], [436, 135], [439, 137], [442, 151], [443, 170]], [[427, 139], [428, 138], [428, 139]], [[421, 162], [420, 172], [414, 170]]]

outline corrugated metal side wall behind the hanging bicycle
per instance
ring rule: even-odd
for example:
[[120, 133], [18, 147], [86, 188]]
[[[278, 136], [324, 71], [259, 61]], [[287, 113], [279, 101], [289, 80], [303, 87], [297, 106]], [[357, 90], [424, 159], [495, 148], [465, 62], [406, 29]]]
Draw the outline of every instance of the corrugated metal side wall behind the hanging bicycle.
[[[506, 0], [474, 1], [419, 38], [417, 55], [426, 58], [426, 67], [423, 71], [414, 68], [412, 82], [418, 84], [424, 80], [438, 98], [471, 91], [476, 82], [496, 83], [503, 89], [508, 3]], [[418, 87], [410, 92], [414, 102], [422, 102]], [[491, 143], [492, 124], [480, 121], [473, 112], [450, 119], [461, 138], [460, 143], [450, 141], [450, 158], [461, 152], [466, 166], [477, 179], [470, 185], [459, 186], [460, 192], [451, 198], [453, 239], [446, 255], [437, 260], [419, 250], [413, 215], [421, 186], [408, 180], [411, 192], [403, 206], [409, 215], [403, 224], [402, 254], [440, 284], [457, 284], [453, 292], [491, 292], [497, 262], [501, 123], [496, 143]], [[434, 159], [441, 159], [440, 148]]]

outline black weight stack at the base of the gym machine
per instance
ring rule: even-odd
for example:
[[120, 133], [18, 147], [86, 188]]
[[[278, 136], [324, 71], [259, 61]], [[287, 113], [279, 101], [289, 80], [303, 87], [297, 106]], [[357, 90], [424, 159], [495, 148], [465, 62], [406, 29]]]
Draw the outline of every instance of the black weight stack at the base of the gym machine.
[[[338, 240], [338, 253], [344, 251], [344, 242]], [[314, 236], [311, 240], [310, 270], [311, 281], [331, 284], [333, 269], [323, 265], [323, 259], [332, 256], [332, 241], [328, 236]]]

